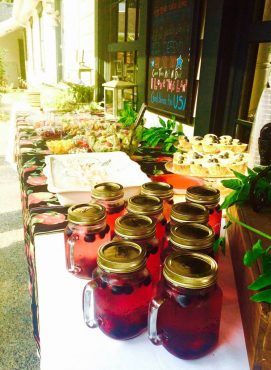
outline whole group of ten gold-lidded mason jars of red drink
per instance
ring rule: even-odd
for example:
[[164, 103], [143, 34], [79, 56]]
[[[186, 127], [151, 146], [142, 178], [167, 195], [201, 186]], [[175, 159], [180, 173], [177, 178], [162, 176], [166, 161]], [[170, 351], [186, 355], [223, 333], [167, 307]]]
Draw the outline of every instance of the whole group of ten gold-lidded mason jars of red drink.
[[150, 182], [126, 202], [123, 187], [107, 182], [95, 186], [90, 203], [70, 207], [66, 265], [89, 280], [86, 324], [114, 339], [148, 329], [154, 344], [183, 359], [213, 349], [222, 306], [213, 254], [219, 196], [194, 186], [174, 204], [171, 185]]

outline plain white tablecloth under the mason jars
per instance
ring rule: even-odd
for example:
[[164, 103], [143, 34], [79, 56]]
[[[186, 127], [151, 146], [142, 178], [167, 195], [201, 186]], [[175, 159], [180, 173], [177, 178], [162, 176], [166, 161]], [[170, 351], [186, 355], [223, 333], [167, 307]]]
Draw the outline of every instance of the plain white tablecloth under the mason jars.
[[219, 261], [224, 292], [219, 344], [201, 359], [184, 361], [154, 346], [146, 333], [117, 341], [89, 329], [82, 316], [86, 281], [66, 271], [63, 233], [37, 235], [35, 246], [41, 370], [249, 370], [229, 255]]

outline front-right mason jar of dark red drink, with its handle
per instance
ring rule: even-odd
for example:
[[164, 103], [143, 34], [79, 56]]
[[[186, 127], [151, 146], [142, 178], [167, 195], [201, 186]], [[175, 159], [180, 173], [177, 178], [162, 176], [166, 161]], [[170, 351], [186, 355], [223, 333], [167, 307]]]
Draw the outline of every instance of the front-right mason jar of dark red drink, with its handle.
[[217, 263], [200, 253], [173, 253], [165, 260], [163, 276], [149, 308], [149, 339], [181, 359], [204, 356], [219, 336], [222, 291]]

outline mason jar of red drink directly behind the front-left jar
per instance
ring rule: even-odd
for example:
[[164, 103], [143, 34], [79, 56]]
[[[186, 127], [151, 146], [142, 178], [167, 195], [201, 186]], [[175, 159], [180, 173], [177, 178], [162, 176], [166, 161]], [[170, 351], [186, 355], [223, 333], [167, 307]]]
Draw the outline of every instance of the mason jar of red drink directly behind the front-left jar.
[[155, 234], [155, 222], [148, 216], [127, 213], [115, 223], [114, 240], [129, 240], [146, 248], [147, 269], [154, 286], [161, 276], [161, 249]]

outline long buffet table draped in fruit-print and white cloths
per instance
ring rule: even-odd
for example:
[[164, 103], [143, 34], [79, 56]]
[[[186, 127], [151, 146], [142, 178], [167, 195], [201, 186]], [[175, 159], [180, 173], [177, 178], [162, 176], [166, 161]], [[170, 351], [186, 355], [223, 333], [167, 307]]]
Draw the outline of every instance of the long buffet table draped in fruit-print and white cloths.
[[[75, 278], [65, 267], [67, 207], [59, 204], [56, 194], [48, 192], [43, 173], [45, 156], [50, 152], [27, 112], [18, 112], [15, 119], [14, 158], [21, 183], [33, 332], [41, 369], [249, 369], [229, 254], [219, 261], [219, 282], [224, 292], [220, 341], [202, 359], [177, 359], [163, 347], [151, 344], [146, 333], [129, 341], [115, 341], [84, 324], [82, 290], [86, 281]], [[137, 154], [135, 159], [148, 175], [165, 172], [167, 157]]]

